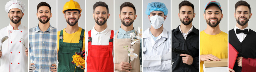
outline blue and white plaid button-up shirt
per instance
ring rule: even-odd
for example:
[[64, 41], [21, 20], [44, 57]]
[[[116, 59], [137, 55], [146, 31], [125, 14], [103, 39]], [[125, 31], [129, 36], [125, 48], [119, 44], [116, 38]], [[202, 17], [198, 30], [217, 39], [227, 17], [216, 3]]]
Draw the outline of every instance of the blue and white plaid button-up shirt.
[[34, 63], [36, 70], [34, 72], [51, 72], [50, 67], [56, 64], [56, 28], [50, 27], [42, 32], [39, 26], [29, 29], [29, 55], [31, 63]]

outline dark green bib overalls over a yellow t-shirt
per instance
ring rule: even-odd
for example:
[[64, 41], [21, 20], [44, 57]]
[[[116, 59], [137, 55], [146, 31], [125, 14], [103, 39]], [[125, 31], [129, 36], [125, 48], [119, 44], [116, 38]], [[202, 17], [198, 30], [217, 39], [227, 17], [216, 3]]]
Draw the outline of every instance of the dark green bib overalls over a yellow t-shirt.
[[[63, 42], [63, 30], [61, 30], [60, 41], [59, 41], [59, 64], [58, 72], [84, 72], [80, 67], [76, 67], [75, 64], [72, 64], [72, 56], [75, 52], [81, 52], [83, 49], [83, 38], [85, 30], [82, 29], [79, 43], [64, 43]], [[76, 69], [75, 69], [76, 67]]]

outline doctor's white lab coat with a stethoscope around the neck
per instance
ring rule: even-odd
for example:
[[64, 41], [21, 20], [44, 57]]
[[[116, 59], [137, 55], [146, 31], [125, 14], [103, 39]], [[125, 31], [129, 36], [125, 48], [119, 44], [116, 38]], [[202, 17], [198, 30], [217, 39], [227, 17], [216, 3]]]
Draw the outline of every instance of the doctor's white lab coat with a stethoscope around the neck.
[[[163, 29], [163, 32], [157, 37], [156, 41], [154, 41], [153, 37], [150, 35], [150, 28], [148, 28], [143, 33], [143, 38], [143, 71], [171, 72], [171, 60], [161, 61], [161, 55], [171, 51], [171, 33], [166, 29]], [[154, 48], [157, 46], [158, 47], [155, 50], [152, 48], [152, 46], [154, 46]]]

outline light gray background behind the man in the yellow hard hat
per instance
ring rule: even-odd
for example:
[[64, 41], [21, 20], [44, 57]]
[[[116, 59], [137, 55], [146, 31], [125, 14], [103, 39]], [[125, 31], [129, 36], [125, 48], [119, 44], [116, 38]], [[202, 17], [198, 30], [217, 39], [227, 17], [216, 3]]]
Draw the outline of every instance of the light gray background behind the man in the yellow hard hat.
[[[57, 11], [58, 12], [57, 13], [58, 28], [57, 28], [57, 31], [61, 31], [67, 27], [66, 19], [64, 17], [64, 14], [62, 13], [63, 6], [67, 1], [70, 1], [70, 0], [58, 0], [58, 3], [57, 3], [58, 4], [58, 8], [57, 8], [57, 10], [58, 10]], [[81, 17], [78, 20], [78, 26], [81, 27], [82, 29], [85, 29], [85, 0], [74, 0], [74, 1], [77, 1], [82, 9]]]

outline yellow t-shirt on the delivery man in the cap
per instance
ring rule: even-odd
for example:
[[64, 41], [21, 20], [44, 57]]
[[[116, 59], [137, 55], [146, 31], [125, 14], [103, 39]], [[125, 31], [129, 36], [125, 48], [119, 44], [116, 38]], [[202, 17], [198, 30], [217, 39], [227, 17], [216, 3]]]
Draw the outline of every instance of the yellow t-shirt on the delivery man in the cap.
[[[200, 55], [212, 54], [218, 58], [227, 58], [227, 33], [209, 35], [200, 32]], [[200, 72], [203, 72], [203, 61], [200, 62]]]

